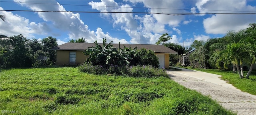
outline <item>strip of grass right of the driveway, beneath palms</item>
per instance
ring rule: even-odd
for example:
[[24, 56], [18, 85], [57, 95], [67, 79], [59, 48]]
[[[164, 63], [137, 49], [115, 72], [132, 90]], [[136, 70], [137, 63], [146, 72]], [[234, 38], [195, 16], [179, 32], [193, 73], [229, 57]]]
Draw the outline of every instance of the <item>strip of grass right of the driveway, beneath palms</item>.
[[[192, 69], [189, 68], [188, 69]], [[197, 71], [203, 71], [207, 73], [213, 73], [221, 75], [221, 79], [227, 81], [227, 83], [232, 84], [237, 89], [241, 91], [256, 95], [256, 71], [252, 71], [249, 79], [240, 79], [238, 73], [233, 73], [233, 71], [223, 71], [219, 69], [194, 69]], [[248, 71], [244, 71], [244, 76], [246, 76]]]

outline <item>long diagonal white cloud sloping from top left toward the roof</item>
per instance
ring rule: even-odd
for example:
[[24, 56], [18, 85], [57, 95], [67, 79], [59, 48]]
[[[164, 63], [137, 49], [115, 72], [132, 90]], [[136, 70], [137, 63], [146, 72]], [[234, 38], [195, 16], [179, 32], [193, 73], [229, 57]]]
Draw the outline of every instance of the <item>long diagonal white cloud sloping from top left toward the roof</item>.
[[[42, 4], [26, 4], [26, 2], [30, 2], [29, 0], [22, 0], [22, 2], [20, 0], [15, 0], [15, 2], [18, 2], [22, 6], [26, 6], [31, 10], [66, 11], [62, 5], [60, 5], [58, 2], [54, 0], [34, 1]], [[52, 5], [48, 5], [48, 4], [58, 4], [58, 5], [53, 7]], [[102, 40], [102, 38], [100, 37], [106, 36], [107, 40], [119, 41], [117, 38], [112, 38], [109, 34], [105, 34], [99, 28], [97, 29], [98, 33], [95, 33], [93, 30], [90, 30], [88, 25], [84, 24], [84, 22], [80, 19], [80, 14], [78, 13], [74, 14], [72, 12], [37, 12], [37, 14], [44, 21], [52, 22], [54, 28], [57, 28], [58, 30], [61, 30], [61, 31], [69, 32], [68, 36], [70, 39], [78, 39], [78, 38], [84, 37], [88, 42], [94, 42], [95, 40]], [[27, 23], [28, 23], [28, 20], [27, 20]], [[30, 28], [32, 28], [31, 30], [39, 34], [46, 34], [50, 32], [50, 28], [47, 26], [46, 23], [35, 24], [31, 22]], [[120, 42], [127, 43], [127, 41], [123, 39], [120, 40]], [[63, 43], [63, 41], [60, 43]]]

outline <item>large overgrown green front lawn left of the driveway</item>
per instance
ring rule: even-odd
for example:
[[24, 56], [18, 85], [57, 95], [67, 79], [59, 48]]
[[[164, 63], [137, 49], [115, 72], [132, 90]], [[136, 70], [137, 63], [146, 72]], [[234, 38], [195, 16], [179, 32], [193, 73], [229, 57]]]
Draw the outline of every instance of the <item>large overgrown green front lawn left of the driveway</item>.
[[0, 109], [19, 115], [234, 115], [166, 77], [92, 75], [77, 67], [1, 71]]

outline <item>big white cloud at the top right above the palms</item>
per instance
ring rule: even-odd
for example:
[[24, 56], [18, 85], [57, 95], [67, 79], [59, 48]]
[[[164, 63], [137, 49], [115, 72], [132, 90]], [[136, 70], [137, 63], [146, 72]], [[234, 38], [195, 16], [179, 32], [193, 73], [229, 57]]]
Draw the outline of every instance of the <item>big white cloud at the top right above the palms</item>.
[[[196, 7], [200, 13], [244, 13], [238, 11], [255, 12], [256, 9], [255, 6], [247, 5], [246, 0], [200, 0], [197, 1]], [[254, 15], [216, 14], [204, 19], [203, 24], [208, 34], [226, 34], [230, 30], [238, 31], [247, 28], [254, 22]]]

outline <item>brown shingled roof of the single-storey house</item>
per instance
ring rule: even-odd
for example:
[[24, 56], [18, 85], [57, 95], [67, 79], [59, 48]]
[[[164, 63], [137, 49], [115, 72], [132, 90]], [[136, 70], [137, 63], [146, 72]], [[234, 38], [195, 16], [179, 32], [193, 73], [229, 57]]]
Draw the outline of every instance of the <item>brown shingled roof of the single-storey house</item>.
[[[102, 46], [102, 43], [99, 44], [100, 46]], [[119, 48], [119, 44], [111, 44], [113, 45], [115, 48]], [[52, 50], [71, 50], [71, 51], [84, 51], [86, 50], [88, 47], [92, 47], [95, 46], [94, 43], [66, 43], [66, 44], [62, 44], [60, 46], [57, 46], [55, 48], [52, 48]], [[175, 52], [174, 50], [164, 46], [164, 45], [153, 45], [153, 44], [120, 44], [120, 48], [124, 48], [127, 47], [129, 48], [130, 46], [132, 48], [137, 47], [137, 50], [140, 50], [142, 48], [145, 48], [147, 50], [152, 50], [155, 53], [163, 53], [163, 54], [177, 54], [177, 52]]]

